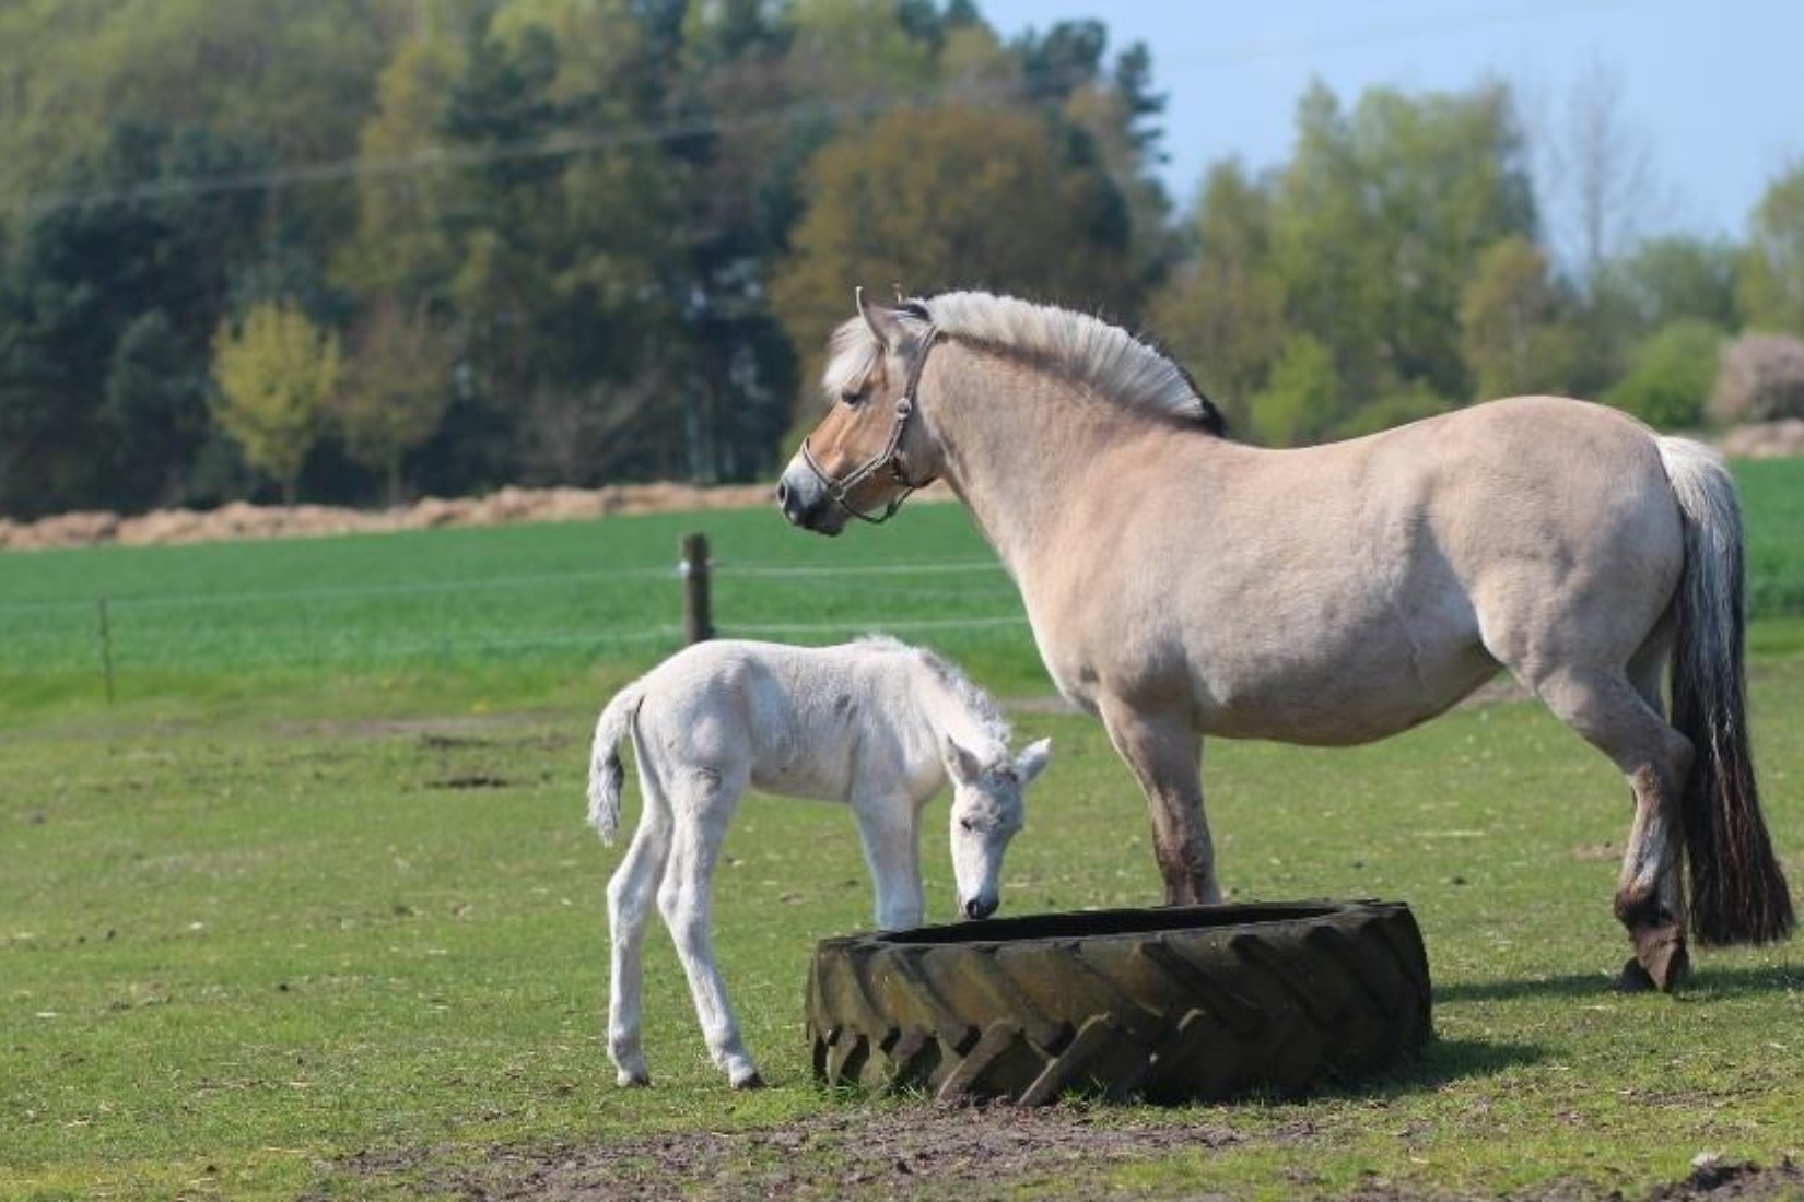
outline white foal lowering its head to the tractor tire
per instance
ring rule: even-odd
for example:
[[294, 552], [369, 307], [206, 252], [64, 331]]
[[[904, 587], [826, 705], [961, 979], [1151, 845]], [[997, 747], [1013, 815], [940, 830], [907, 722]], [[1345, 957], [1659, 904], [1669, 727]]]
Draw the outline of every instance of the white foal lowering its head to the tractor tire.
[[994, 703], [945, 660], [891, 638], [842, 647], [709, 642], [628, 685], [601, 712], [588, 818], [613, 842], [621, 741], [631, 735], [644, 811], [608, 883], [613, 962], [608, 1054], [621, 1085], [648, 1085], [640, 1047], [651, 899], [689, 977], [707, 1051], [734, 1088], [763, 1085], [714, 964], [709, 883], [747, 786], [850, 802], [877, 887], [877, 926], [922, 921], [920, 815], [953, 782], [953, 874], [965, 917], [996, 910], [1021, 789], [1050, 741], [1008, 753]]

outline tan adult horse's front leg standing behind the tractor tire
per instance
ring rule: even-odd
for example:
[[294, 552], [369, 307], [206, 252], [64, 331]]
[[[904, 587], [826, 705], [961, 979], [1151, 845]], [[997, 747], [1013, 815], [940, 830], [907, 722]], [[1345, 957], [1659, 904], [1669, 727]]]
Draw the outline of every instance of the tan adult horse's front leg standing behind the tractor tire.
[[1109, 741], [1146, 793], [1165, 905], [1221, 901], [1203, 816], [1203, 741], [1176, 715], [1140, 712], [1120, 701], [1104, 701], [1100, 712]]

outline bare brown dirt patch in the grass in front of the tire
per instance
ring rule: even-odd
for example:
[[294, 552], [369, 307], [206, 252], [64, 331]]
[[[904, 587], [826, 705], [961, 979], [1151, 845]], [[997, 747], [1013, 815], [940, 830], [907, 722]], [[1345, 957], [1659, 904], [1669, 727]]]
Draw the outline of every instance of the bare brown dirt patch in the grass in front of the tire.
[[[1310, 1139], [1297, 1125], [1263, 1141]], [[750, 1132], [639, 1135], [554, 1148], [500, 1148], [482, 1164], [429, 1155], [348, 1157], [350, 1179], [400, 1179], [426, 1193], [503, 1202], [599, 1198], [992, 1197], [1010, 1182], [1066, 1189], [1099, 1168], [1173, 1152], [1227, 1148], [1247, 1135], [1218, 1123], [1099, 1121], [1082, 1110], [989, 1106], [861, 1108]], [[1064, 1193], [1066, 1189], [1061, 1189]]]

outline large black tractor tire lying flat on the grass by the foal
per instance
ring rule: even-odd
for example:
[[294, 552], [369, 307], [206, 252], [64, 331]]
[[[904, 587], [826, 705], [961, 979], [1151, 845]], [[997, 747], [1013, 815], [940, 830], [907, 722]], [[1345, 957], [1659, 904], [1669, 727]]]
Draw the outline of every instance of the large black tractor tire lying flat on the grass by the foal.
[[1037, 914], [819, 944], [806, 1036], [828, 1085], [1045, 1105], [1349, 1085], [1431, 1036], [1400, 903]]

